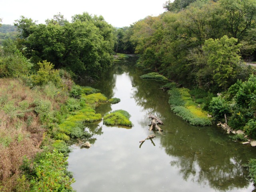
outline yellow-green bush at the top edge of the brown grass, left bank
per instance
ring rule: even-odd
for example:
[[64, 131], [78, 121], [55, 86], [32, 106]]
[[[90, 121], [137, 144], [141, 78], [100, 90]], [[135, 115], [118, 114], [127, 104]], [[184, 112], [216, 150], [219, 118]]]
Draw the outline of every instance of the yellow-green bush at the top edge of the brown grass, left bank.
[[61, 84], [60, 74], [57, 70], [53, 69], [53, 64], [44, 60], [42, 63], [38, 62], [40, 67], [38, 72], [31, 76], [34, 85], [43, 86], [48, 82], [53, 82], [56, 86]]

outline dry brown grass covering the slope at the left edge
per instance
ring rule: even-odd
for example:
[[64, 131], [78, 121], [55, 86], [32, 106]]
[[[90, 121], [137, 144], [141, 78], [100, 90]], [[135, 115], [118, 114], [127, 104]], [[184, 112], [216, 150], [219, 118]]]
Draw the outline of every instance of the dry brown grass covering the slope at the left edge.
[[45, 96], [18, 80], [0, 79], [0, 191], [16, 188], [24, 157], [32, 159], [40, 150], [45, 130], [33, 110], [34, 98]]

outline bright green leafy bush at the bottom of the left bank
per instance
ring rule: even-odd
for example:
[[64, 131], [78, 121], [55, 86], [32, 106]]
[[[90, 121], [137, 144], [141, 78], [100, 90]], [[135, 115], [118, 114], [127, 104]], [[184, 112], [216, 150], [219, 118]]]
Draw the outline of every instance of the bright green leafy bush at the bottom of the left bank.
[[36, 176], [30, 181], [31, 191], [69, 191], [74, 179], [66, 176], [68, 162], [64, 154], [43, 153], [34, 162]]

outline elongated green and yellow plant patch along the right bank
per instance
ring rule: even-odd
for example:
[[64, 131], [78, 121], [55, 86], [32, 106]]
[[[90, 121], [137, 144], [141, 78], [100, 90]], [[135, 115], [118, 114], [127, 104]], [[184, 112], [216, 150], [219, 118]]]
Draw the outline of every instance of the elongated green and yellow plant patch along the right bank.
[[212, 122], [207, 117], [207, 112], [203, 111], [196, 104], [186, 88], [173, 88], [168, 91], [170, 95], [169, 104], [172, 111], [180, 116], [183, 120], [188, 121], [191, 125], [208, 126]]

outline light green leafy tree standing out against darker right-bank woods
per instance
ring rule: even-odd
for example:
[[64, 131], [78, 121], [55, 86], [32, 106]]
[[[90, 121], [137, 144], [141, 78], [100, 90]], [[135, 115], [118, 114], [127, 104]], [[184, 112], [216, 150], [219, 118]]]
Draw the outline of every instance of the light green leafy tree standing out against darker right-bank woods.
[[219, 87], [225, 90], [234, 81], [236, 68], [240, 63], [240, 48], [237, 39], [223, 36], [220, 39], [208, 39], [202, 50], [206, 54], [207, 64], [212, 68], [213, 79]]

